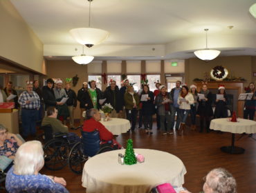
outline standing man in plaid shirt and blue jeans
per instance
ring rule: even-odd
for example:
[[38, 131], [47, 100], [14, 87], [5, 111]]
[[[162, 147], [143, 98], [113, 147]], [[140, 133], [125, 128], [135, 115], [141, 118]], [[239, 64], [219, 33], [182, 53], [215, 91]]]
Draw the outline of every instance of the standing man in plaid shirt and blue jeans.
[[28, 137], [29, 134], [35, 136], [35, 125], [40, 108], [40, 98], [37, 92], [33, 91], [33, 82], [27, 81], [27, 90], [19, 96], [21, 105], [22, 136]]

